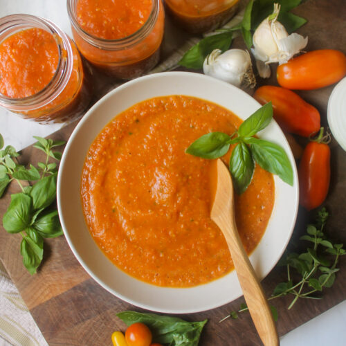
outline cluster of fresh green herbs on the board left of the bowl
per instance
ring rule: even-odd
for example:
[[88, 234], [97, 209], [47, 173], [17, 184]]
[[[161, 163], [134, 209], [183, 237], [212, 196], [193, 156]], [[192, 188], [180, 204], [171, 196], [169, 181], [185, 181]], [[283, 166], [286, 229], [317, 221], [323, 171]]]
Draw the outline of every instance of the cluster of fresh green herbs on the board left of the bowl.
[[[49, 163], [48, 160], [51, 157], [60, 161], [61, 153], [52, 149], [65, 142], [35, 138], [38, 142], [34, 147], [46, 154], [46, 161], [39, 162], [38, 167], [30, 165], [27, 169], [15, 161], [19, 154], [14, 147], [8, 145], [2, 149], [4, 143], [0, 134], [0, 197], [13, 180], [17, 181], [22, 191], [11, 195], [10, 205], [3, 215], [3, 228], [8, 233], [21, 234], [20, 253], [30, 274], [36, 273], [42, 262], [44, 238], [62, 235], [57, 210], [51, 208], [56, 198], [57, 164]], [[21, 181], [35, 183], [23, 187]]]

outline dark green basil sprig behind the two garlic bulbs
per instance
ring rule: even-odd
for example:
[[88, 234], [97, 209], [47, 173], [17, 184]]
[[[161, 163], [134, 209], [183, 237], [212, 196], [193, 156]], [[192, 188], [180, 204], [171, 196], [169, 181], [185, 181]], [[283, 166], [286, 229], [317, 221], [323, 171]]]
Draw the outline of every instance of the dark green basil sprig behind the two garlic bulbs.
[[302, 0], [250, 0], [244, 10], [244, 17], [237, 26], [221, 28], [215, 30], [212, 35], [204, 37], [183, 55], [178, 64], [188, 69], [202, 69], [206, 56], [214, 49], [220, 49], [222, 52], [228, 50], [232, 43], [233, 31], [237, 30], [242, 33], [244, 42], [250, 49], [253, 45], [253, 32], [268, 15], [271, 15], [274, 3], [280, 3], [281, 6], [278, 20], [288, 33], [293, 33], [307, 22], [306, 19], [289, 12], [301, 2]]

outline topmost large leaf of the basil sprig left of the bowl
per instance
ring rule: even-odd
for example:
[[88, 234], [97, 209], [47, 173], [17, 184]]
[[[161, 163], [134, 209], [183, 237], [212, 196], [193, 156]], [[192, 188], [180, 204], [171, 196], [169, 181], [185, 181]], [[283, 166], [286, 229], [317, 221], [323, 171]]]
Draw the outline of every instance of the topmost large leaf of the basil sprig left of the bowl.
[[34, 210], [46, 208], [55, 200], [57, 193], [57, 175], [45, 176], [37, 181], [30, 191]]

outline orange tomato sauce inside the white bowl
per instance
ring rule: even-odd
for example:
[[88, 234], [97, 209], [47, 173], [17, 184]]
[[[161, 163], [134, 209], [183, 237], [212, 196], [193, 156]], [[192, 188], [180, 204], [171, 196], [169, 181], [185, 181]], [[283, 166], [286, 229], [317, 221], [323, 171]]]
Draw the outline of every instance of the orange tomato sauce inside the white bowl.
[[[233, 269], [210, 219], [211, 161], [185, 149], [210, 131], [233, 134], [241, 122], [212, 102], [172, 95], [135, 104], [104, 127], [86, 156], [81, 197], [89, 231], [113, 264], [170, 287], [205, 284]], [[256, 166], [235, 198], [247, 253], [264, 234], [274, 197], [272, 174]]]

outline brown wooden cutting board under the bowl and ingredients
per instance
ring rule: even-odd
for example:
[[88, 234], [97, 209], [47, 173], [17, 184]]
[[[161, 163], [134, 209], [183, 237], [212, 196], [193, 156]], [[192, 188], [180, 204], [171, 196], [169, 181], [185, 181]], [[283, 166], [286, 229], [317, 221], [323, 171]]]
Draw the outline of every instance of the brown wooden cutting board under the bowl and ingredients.
[[[300, 34], [309, 36], [307, 51], [336, 48], [346, 53], [344, 0], [307, 0], [293, 12], [309, 20], [308, 24], [298, 30]], [[242, 39], [235, 39], [232, 47], [244, 48]], [[275, 72], [275, 67], [273, 71]], [[275, 73], [270, 80], [261, 82], [276, 84]], [[327, 125], [327, 100], [332, 89], [333, 86], [330, 86], [300, 93], [319, 109], [322, 125]], [[64, 127], [51, 138], [67, 140], [75, 125], [76, 122]], [[301, 141], [304, 144], [304, 140]], [[21, 163], [37, 163], [42, 158], [41, 152], [33, 147], [24, 149], [20, 157]], [[345, 244], [346, 152], [335, 140], [331, 142], [331, 172], [331, 186], [325, 202], [330, 213], [326, 233], [335, 241]], [[11, 185], [6, 196], [1, 199], [1, 216], [10, 202], [10, 193], [17, 192], [16, 188]], [[306, 246], [298, 239], [314, 214], [299, 210], [289, 244], [291, 251], [300, 251], [302, 246]], [[111, 345], [111, 333], [117, 329], [125, 330], [125, 325], [116, 318], [116, 313], [127, 309], [142, 311], [111, 295], [91, 279], [75, 260], [64, 237], [46, 239], [42, 266], [37, 275], [31, 276], [21, 263], [19, 255], [21, 236], [6, 233], [2, 225], [0, 228], [0, 258], [49, 345]], [[334, 286], [323, 292], [322, 300], [300, 300], [290, 311], [286, 308], [291, 297], [282, 297], [273, 302], [279, 313], [277, 329], [280, 336], [345, 300], [345, 258], [341, 259], [340, 268]], [[286, 279], [285, 275], [284, 268], [273, 269], [263, 281], [267, 295], [271, 294], [276, 284]], [[209, 322], [201, 336], [201, 346], [261, 345], [248, 313], [240, 314], [238, 320], [228, 319], [219, 323], [229, 311], [239, 309], [241, 302], [243, 299], [239, 298], [217, 309], [181, 317], [186, 320], [208, 318]]]

